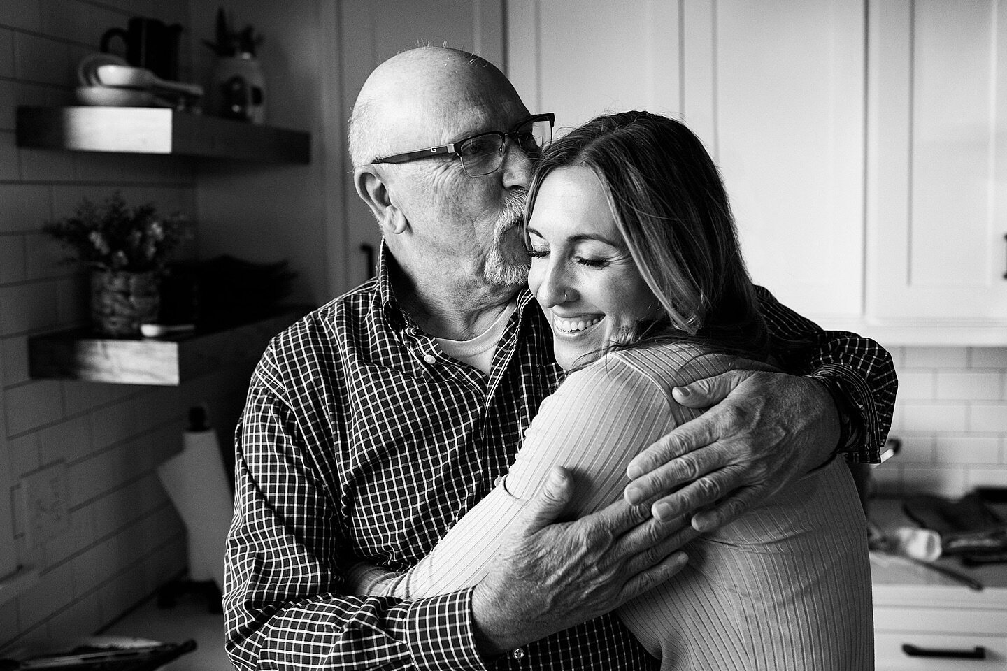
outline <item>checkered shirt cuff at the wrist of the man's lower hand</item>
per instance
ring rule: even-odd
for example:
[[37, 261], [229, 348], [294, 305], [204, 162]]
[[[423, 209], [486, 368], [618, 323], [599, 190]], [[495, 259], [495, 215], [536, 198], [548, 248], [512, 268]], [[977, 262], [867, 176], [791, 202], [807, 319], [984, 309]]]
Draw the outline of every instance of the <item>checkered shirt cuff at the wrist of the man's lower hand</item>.
[[406, 640], [417, 669], [486, 671], [475, 647], [474, 588], [413, 602], [406, 614]]

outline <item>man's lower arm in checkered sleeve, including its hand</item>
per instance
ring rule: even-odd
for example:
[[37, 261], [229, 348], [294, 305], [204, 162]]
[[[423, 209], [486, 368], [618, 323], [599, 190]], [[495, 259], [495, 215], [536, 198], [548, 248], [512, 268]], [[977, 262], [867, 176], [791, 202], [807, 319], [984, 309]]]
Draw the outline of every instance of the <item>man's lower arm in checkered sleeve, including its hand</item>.
[[[511, 554], [477, 589], [410, 600], [352, 595], [343, 567], [355, 559], [330, 485], [337, 469], [307, 449], [306, 420], [276, 379], [261, 363], [237, 440], [225, 612], [238, 669], [482, 669], [485, 657], [608, 612], [680, 567], [667, 558], [678, 527], [645, 519], [645, 508], [619, 501], [554, 524], [569, 498], [561, 479], [536, 497]], [[341, 449], [339, 437], [327, 440]], [[588, 559], [552, 551], [563, 546]], [[607, 571], [593, 561], [601, 555]], [[529, 609], [549, 617], [533, 621]]]

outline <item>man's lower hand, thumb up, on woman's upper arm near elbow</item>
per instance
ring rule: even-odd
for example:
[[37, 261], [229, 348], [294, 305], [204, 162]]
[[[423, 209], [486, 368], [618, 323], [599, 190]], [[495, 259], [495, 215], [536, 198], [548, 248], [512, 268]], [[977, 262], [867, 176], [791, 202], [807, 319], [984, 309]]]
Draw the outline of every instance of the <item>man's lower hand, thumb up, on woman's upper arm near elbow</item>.
[[472, 614], [487, 656], [573, 627], [664, 582], [687, 561], [696, 537], [684, 516], [667, 522], [649, 506], [616, 501], [573, 522], [556, 522], [570, 501], [562, 468], [526, 507], [493, 569], [476, 586]]

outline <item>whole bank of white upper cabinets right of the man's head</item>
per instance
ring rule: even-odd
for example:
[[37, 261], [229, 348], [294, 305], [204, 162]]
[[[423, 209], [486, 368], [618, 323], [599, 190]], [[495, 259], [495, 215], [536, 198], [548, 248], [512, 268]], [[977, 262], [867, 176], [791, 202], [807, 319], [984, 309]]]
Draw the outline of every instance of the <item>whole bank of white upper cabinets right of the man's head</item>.
[[533, 110], [650, 110], [703, 139], [753, 280], [786, 305], [885, 345], [1007, 343], [1007, 0], [507, 12]]

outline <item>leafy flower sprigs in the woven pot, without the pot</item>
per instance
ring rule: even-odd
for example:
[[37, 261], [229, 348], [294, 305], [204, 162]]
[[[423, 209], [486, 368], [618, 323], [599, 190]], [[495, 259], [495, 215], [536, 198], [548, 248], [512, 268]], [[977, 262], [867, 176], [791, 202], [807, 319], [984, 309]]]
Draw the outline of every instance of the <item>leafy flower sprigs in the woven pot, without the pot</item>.
[[75, 216], [47, 221], [42, 231], [70, 247], [93, 268], [131, 273], [160, 272], [168, 253], [189, 237], [189, 219], [157, 214], [153, 203], [129, 207], [119, 191], [97, 205], [84, 198]]

